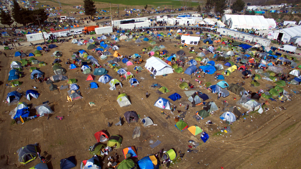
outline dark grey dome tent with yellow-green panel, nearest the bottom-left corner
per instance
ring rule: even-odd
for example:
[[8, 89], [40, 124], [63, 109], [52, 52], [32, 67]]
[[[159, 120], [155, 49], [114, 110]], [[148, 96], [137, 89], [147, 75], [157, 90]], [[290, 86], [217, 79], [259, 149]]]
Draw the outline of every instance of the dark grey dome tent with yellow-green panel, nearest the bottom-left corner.
[[29, 144], [27, 146], [18, 149], [17, 154], [19, 156], [18, 161], [21, 164], [27, 164], [33, 161], [38, 156], [37, 148], [35, 144]]

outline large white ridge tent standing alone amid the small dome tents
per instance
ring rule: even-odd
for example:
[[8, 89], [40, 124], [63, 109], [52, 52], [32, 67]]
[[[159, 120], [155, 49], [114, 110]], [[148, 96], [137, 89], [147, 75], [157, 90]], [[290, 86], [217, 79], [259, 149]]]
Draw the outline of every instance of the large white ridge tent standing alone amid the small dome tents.
[[172, 67], [158, 57], [151, 57], [147, 59], [144, 67], [154, 75], [173, 73]]

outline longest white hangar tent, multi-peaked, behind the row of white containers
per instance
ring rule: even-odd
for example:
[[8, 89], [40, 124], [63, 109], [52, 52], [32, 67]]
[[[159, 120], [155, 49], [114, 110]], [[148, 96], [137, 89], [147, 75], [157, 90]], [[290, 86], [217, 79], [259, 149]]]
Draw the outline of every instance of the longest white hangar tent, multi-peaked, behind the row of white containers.
[[225, 14], [222, 22], [230, 29], [273, 29], [276, 27], [274, 19], [266, 19], [260, 15], [230, 15]]

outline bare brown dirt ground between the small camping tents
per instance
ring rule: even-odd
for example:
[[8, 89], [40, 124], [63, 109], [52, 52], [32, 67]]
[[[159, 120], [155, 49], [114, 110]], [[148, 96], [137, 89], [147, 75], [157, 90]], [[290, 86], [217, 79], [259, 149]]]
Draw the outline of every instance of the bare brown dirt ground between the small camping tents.
[[[163, 31], [167, 33], [166, 31]], [[91, 37], [88, 36], [88, 37]], [[96, 35], [97, 37], [97, 35]], [[84, 37], [84, 39], [86, 36]], [[109, 39], [110, 40], [110, 39]], [[113, 42], [113, 41], [112, 41]], [[157, 46], [164, 45], [166, 50], [171, 53], [175, 53], [179, 48], [173, 47], [174, 44], [179, 41], [172, 40], [169, 42], [157, 42]], [[21, 50], [25, 53], [33, 52], [34, 49], [28, 45], [28, 42], [21, 47]], [[148, 59], [147, 54], [143, 54], [141, 49], [144, 47], [150, 46], [147, 42], [139, 43], [140, 46], [134, 41], [125, 42], [120, 41], [117, 43], [121, 46], [118, 52], [125, 55], [140, 54], [142, 59], [145, 61]], [[95, 144], [94, 133], [101, 130], [107, 130], [110, 135], [120, 134], [123, 137], [122, 146], [119, 149], [113, 150], [108, 156], [117, 152], [118, 155], [123, 156], [122, 149], [135, 146], [138, 150], [138, 159], [147, 156], [148, 154], [157, 153], [159, 150], [169, 150], [170, 148], [175, 148], [177, 151], [181, 150], [185, 152], [185, 156], [181, 161], [176, 161], [175, 164], [172, 164], [171, 168], [248, 168], [248, 169], [258, 169], [258, 168], [299, 168], [300, 160], [296, 158], [300, 155], [300, 132], [301, 132], [301, 123], [300, 123], [300, 113], [298, 111], [298, 105], [300, 102], [300, 95], [293, 93], [290, 89], [297, 88], [297, 86], [285, 86], [284, 89], [290, 93], [293, 93], [293, 97], [290, 99], [292, 101], [287, 101], [281, 103], [280, 100], [277, 101], [268, 100], [269, 111], [265, 111], [262, 114], [257, 112], [250, 113], [248, 116], [240, 118], [240, 120], [234, 122], [231, 125], [231, 134], [225, 134], [219, 132], [218, 127], [227, 127], [228, 124], [225, 124], [219, 116], [222, 114], [220, 111], [224, 106], [222, 105], [223, 100], [227, 100], [229, 106], [235, 106], [236, 101], [239, 99], [239, 96], [230, 92], [230, 95], [226, 98], [221, 98], [217, 100], [217, 95], [210, 93], [204, 87], [194, 80], [202, 80], [203, 83], [210, 81], [212, 84], [216, 84], [217, 81], [213, 79], [213, 75], [206, 75], [206, 78], [196, 78], [194, 76], [186, 74], [177, 74], [172, 73], [166, 77], [159, 76], [156, 79], [150, 76], [150, 73], [143, 69], [141, 72], [136, 74], [133, 66], [126, 66], [122, 62], [119, 62], [121, 67], [126, 67], [128, 71], [132, 72], [135, 78], [138, 79], [140, 85], [138, 87], [130, 86], [128, 81], [122, 81], [123, 88], [118, 87], [116, 91], [109, 90], [109, 84], [102, 84], [98, 82], [100, 76], [96, 76], [95, 82], [100, 86], [98, 89], [88, 89], [90, 82], [85, 81], [88, 75], [84, 75], [80, 72], [80, 69], [69, 70], [68, 65], [65, 64], [68, 58], [71, 57], [71, 54], [74, 51], [79, 49], [86, 50], [86, 46], [77, 46], [71, 44], [71, 41], [56, 44], [58, 48], [52, 49], [49, 53], [42, 53], [42, 57], [35, 57], [39, 61], [45, 61], [48, 65], [44, 67], [38, 67], [42, 72], [45, 72], [45, 76], [54, 75], [52, 71], [51, 63], [55, 59], [51, 57], [51, 54], [54, 51], [62, 51], [63, 56], [61, 59], [63, 62], [62, 67], [67, 69], [68, 78], [76, 78], [78, 80], [79, 91], [83, 96], [83, 99], [75, 100], [72, 102], [67, 102], [67, 89], [65, 90], [56, 90], [49, 91], [49, 85], [45, 82], [39, 83], [34, 80], [30, 80], [29, 69], [24, 69], [25, 77], [20, 78], [19, 81], [23, 82], [19, 86], [19, 92], [25, 92], [26, 90], [33, 89], [32, 86], [37, 87], [40, 96], [38, 99], [32, 99], [30, 101], [26, 100], [25, 97], [21, 97], [20, 102], [26, 102], [31, 107], [31, 115], [35, 115], [35, 106], [39, 106], [44, 101], [49, 101], [49, 105], [55, 114], [52, 115], [48, 120], [46, 117], [36, 118], [30, 121], [26, 121], [24, 124], [13, 124], [11, 116], [8, 115], [9, 111], [14, 109], [16, 105], [8, 106], [6, 102], [6, 96], [8, 92], [17, 90], [17, 88], [8, 88], [5, 84], [8, 83], [8, 72], [10, 70], [10, 64], [13, 60], [20, 60], [19, 57], [13, 57], [16, 50], [11, 51], [2, 51], [6, 52], [9, 57], [1, 55], [1, 68], [0, 78], [0, 96], [2, 98], [1, 109], [2, 113], [0, 115], [0, 166], [1, 168], [29, 168], [40, 162], [39, 159], [36, 159], [26, 166], [18, 163], [18, 156], [15, 153], [21, 146], [27, 144], [39, 143], [39, 148], [41, 149], [41, 155], [46, 157], [46, 162], [50, 169], [59, 168], [60, 160], [62, 158], [67, 158], [71, 155], [76, 155], [77, 166], [80, 165], [82, 160], [91, 158], [91, 155], [88, 153], [89, 146]], [[204, 44], [200, 42], [197, 45], [197, 50], [200, 46]], [[214, 45], [218, 45], [215, 44]], [[153, 45], [154, 47], [155, 45]], [[190, 46], [190, 45], [189, 45]], [[188, 53], [187, 48], [182, 49], [186, 52], [187, 57], [196, 57], [195, 54]], [[99, 60], [101, 65], [107, 60], [113, 58], [108, 57], [107, 60], [100, 60], [96, 57], [96, 54], [92, 50], [86, 50], [89, 55], [94, 56]], [[112, 50], [109, 50], [113, 53]], [[206, 55], [206, 57], [213, 56], [212, 54]], [[29, 59], [29, 58], [26, 58]], [[70, 58], [71, 59], [71, 58]], [[221, 62], [216, 62], [221, 63]], [[145, 62], [141, 64], [141, 67], [144, 68]], [[198, 63], [200, 65], [200, 63]], [[238, 64], [240, 66], [240, 64]], [[33, 65], [36, 66], [36, 65]], [[184, 70], [188, 66], [186, 65]], [[120, 79], [117, 72], [113, 71], [112, 68], [105, 67], [108, 71], [108, 74], [114, 78]], [[216, 73], [221, 73], [222, 71], [216, 71]], [[267, 86], [274, 85], [273, 82], [258, 80], [261, 86], [251, 87], [251, 79], [243, 80], [241, 78], [241, 72], [235, 71], [231, 73], [230, 76], [225, 76], [225, 81], [230, 83], [236, 83], [238, 81], [246, 81], [244, 88], [246, 90], [250, 89], [251, 91], [258, 91], [260, 89], [266, 90]], [[200, 90], [203, 93], [208, 94], [212, 98], [208, 101], [214, 101], [219, 110], [216, 111], [213, 115], [197, 122], [192, 116], [195, 115], [195, 112], [203, 109], [202, 106], [189, 107], [189, 110], [186, 111], [184, 121], [188, 126], [198, 125], [202, 127], [204, 131], [209, 134], [209, 140], [206, 143], [203, 143], [200, 139], [200, 135], [193, 136], [188, 130], [179, 131], [174, 125], [174, 117], [178, 113], [174, 112], [174, 115], [170, 112], [170, 119], [165, 119], [165, 115], [161, 115], [161, 109], [157, 108], [154, 105], [154, 102], [158, 97], [167, 98], [169, 95], [177, 92], [182, 96], [181, 100], [175, 102], [171, 101], [172, 104], [175, 104], [181, 111], [185, 112], [185, 108], [180, 106], [182, 104], [189, 104], [187, 100], [188, 97], [184, 94], [185, 90], [179, 88], [180, 81], [179, 78], [184, 78], [187, 81], [190, 81], [196, 89]], [[167, 94], [157, 94], [155, 91], [157, 88], [152, 88], [151, 84], [157, 82], [162, 86], [165, 86], [170, 90]], [[67, 85], [67, 81], [61, 81], [56, 83], [57, 86]], [[128, 107], [121, 108], [117, 101], [118, 91], [120, 93], [126, 93], [129, 97], [132, 105]], [[150, 93], [149, 98], [145, 98], [145, 93], [148, 91]], [[237, 100], [234, 101], [234, 97]], [[259, 102], [264, 102], [265, 99], [261, 98]], [[95, 105], [90, 107], [89, 102], [94, 102]], [[286, 110], [279, 109], [279, 106], [283, 106]], [[241, 106], [240, 106], [241, 107]], [[126, 111], [136, 111], [141, 118], [149, 116], [153, 119], [154, 124], [157, 126], [151, 126], [149, 128], [144, 128], [140, 123], [131, 123], [127, 124], [124, 122], [123, 114]], [[246, 109], [241, 110], [241, 112], [247, 111]], [[64, 116], [64, 120], [57, 120], [54, 117]], [[119, 117], [123, 117], [123, 125], [115, 126], [114, 124], [118, 122]], [[213, 121], [212, 126], [205, 125], [206, 121]], [[113, 123], [112, 127], [107, 127], [107, 122]], [[140, 138], [132, 139], [132, 132], [135, 126], [141, 126], [141, 136]], [[144, 139], [149, 137], [151, 134], [156, 134], [154, 137], [151, 137], [145, 142], [142, 142]], [[160, 140], [162, 143], [152, 149], [150, 145], [150, 140], [154, 142]], [[187, 152], [189, 148], [189, 140], [195, 140], [200, 143], [196, 154], [194, 152]], [[194, 148], [192, 148], [194, 149]], [[107, 156], [107, 157], [108, 157]], [[119, 161], [122, 161], [123, 157], [119, 158]], [[107, 160], [103, 158], [103, 168], [107, 168]], [[165, 168], [165, 167], [163, 167]]]

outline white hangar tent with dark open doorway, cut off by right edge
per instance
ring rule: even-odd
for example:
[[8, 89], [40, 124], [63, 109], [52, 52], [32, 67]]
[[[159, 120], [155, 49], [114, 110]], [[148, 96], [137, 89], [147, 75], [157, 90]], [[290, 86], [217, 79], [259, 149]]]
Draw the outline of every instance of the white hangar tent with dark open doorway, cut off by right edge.
[[290, 28], [278, 29], [268, 32], [269, 39], [277, 39], [280, 41], [293, 42], [301, 44], [301, 26], [294, 26]]

